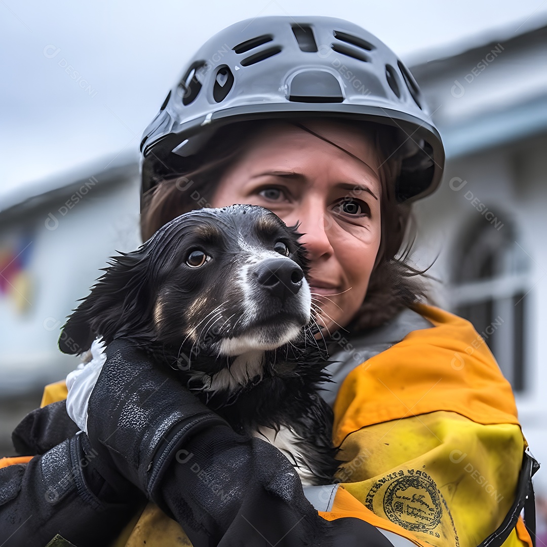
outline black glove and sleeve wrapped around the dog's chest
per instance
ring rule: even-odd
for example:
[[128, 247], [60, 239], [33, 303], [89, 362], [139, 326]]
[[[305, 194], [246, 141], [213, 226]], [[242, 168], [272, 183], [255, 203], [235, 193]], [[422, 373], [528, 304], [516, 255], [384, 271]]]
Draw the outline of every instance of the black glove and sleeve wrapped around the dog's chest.
[[235, 433], [134, 344], [115, 340], [106, 352], [89, 399], [90, 443], [194, 547], [391, 546], [360, 519], [322, 519], [276, 447]]

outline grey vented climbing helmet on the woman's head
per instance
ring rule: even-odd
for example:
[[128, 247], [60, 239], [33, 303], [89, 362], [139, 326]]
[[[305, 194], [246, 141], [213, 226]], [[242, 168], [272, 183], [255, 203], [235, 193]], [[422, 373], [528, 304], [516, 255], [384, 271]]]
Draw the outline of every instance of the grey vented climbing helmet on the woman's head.
[[[444, 148], [418, 85], [373, 34], [344, 19], [268, 16], [218, 32], [192, 57], [141, 142], [142, 191], [173, 176], [220, 126], [307, 116], [396, 128], [403, 158], [395, 195], [439, 185]], [[176, 161], [174, 161], [176, 160]]]

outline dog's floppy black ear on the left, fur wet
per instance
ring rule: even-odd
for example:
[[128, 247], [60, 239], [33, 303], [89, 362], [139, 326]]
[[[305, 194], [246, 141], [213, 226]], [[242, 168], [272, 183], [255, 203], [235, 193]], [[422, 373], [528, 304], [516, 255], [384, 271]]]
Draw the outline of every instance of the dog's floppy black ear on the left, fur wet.
[[146, 254], [142, 246], [132, 253], [110, 257], [109, 266], [103, 268], [105, 273], [62, 327], [59, 348], [63, 353], [89, 350], [97, 336], [108, 345], [127, 332], [138, 334], [149, 328]]

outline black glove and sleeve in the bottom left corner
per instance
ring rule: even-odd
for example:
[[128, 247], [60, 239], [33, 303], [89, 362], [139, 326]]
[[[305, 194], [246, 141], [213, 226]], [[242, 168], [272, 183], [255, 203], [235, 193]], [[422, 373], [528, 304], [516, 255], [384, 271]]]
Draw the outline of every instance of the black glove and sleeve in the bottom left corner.
[[[0, 545], [44, 547], [56, 534], [78, 547], [110, 545], [147, 500], [104, 469], [83, 433], [0, 469]], [[113, 485], [105, 474], [117, 476]]]

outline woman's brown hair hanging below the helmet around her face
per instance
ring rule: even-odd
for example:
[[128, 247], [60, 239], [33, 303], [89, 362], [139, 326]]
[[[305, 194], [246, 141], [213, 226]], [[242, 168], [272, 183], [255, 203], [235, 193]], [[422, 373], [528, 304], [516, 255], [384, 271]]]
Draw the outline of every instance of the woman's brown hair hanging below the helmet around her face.
[[[248, 120], [220, 127], [201, 151], [194, 156], [175, 158], [168, 177], [152, 177], [155, 185], [142, 197], [141, 235], [146, 241], [156, 230], [182, 213], [207, 206], [224, 172], [240, 158], [245, 146], [258, 129], [270, 120]], [[274, 121], [274, 120], [272, 120]], [[277, 120], [278, 121], [278, 120]], [[305, 123], [305, 119], [298, 120]], [[356, 124], [354, 120], [336, 119]], [[352, 332], [377, 327], [414, 302], [424, 300], [426, 270], [409, 264], [416, 238], [411, 206], [395, 200], [395, 180], [401, 159], [400, 146], [392, 127], [364, 122], [363, 132], [372, 135], [383, 160], [379, 168], [381, 192], [381, 242], [369, 286], [356, 315]], [[184, 162], [184, 167], [183, 167]], [[401, 247], [406, 245], [399, 256]], [[430, 267], [430, 266], [429, 266]]]

